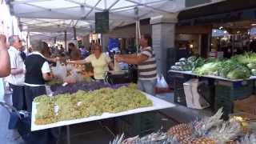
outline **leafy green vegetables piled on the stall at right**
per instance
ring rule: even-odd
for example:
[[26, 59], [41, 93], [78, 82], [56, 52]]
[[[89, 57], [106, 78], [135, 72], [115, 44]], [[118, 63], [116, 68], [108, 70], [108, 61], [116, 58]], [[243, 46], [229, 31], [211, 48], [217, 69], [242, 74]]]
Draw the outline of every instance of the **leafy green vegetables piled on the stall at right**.
[[171, 69], [192, 70], [198, 76], [213, 75], [228, 79], [246, 79], [256, 76], [256, 54], [240, 54], [230, 59], [181, 58]]

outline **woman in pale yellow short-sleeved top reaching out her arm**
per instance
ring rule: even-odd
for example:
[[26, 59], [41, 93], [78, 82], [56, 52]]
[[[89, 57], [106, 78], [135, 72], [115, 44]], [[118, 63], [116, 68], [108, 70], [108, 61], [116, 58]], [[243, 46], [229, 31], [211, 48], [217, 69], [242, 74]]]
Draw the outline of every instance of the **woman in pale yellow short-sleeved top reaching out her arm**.
[[102, 53], [102, 46], [99, 44], [94, 44], [92, 46], [92, 54], [90, 54], [86, 59], [70, 61], [68, 63], [82, 64], [87, 62], [91, 63], [94, 67], [94, 78], [96, 80], [104, 80], [105, 73], [109, 70], [109, 66], [114, 70], [114, 65], [111, 62], [110, 57], [107, 54]]

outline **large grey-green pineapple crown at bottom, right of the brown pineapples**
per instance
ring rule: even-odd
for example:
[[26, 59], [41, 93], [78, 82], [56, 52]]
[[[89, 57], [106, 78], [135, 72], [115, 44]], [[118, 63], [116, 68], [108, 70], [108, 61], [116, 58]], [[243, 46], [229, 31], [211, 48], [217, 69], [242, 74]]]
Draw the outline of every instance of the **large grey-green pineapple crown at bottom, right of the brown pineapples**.
[[221, 126], [217, 126], [214, 130], [210, 130], [208, 138], [214, 139], [218, 144], [224, 144], [236, 138], [242, 132], [242, 127], [239, 122], [231, 120], [223, 122]]

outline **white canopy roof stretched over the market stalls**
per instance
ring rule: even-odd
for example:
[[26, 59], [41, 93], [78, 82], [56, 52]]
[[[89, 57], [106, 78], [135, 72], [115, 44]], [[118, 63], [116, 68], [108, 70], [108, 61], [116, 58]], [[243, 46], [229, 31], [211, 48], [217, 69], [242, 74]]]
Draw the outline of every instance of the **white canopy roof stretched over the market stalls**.
[[[215, 2], [216, 0], [212, 0]], [[135, 19], [172, 14], [185, 9], [186, 0], [14, 0], [11, 10], [22, 24], [22, 30], [57, 35], [66, 30], [88, 34], [94, 30], [94, 14], [110, 12], [110, 30]], [[138, 17], [134, 14], [138, 7]]]

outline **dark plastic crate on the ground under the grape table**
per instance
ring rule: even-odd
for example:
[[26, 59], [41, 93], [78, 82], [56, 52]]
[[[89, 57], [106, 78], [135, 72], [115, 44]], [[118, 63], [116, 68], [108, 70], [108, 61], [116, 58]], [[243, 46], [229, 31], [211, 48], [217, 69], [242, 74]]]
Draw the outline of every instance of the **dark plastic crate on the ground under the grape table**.
[[131, 114], [118, 118], [118, 133], [126, 136], [144, 136], [160, 129], [160, 117], [157, 112]]

